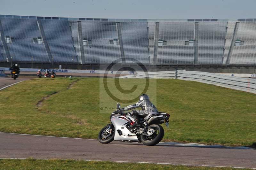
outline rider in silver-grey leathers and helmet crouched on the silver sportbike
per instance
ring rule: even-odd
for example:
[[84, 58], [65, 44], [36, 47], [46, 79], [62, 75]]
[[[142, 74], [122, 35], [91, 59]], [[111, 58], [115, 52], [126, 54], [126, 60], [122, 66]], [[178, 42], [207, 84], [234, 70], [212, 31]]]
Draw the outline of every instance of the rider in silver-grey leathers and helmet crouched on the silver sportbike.
[[141, 110], [133, 110], [131, 112], [132, 118], [135, 121], [135, 124], [133, 124], [133, 126], [136, 126], [140, 123], [139, 116], [146, 117], [151, 112], [157, 112], [156, 106], [149, 101], [149, 97], [147, 94], [142, 94], [139, 97], [139, 102], [126, 106], [124, 108], [124, 111], [132, 110], [138, 107], [141, 107]]

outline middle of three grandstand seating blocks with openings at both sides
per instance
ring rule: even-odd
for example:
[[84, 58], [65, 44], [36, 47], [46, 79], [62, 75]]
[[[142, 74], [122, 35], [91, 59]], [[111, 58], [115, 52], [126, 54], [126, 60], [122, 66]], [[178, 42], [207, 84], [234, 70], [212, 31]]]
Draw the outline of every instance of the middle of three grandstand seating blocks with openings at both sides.
[[120, 46], [110, 44], [118, 39], [116, 23], [108, 21], [81, 21], [85, 63], [111, 63], [121, 58]]

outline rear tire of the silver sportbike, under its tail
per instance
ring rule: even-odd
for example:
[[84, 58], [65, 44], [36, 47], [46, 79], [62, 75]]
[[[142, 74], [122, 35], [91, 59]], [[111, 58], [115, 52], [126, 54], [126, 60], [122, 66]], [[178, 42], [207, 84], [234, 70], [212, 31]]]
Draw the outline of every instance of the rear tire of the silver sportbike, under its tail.
[[[149, 125], [148, 129], [153, 129], [154, 132], [150, 136], [141, 135], [141, 142], [144, 145], [153, 146], [159, 143], [164, 137], [164, 129], [160, 125]], [[147, 133], [147, 132], [146, 132]]]

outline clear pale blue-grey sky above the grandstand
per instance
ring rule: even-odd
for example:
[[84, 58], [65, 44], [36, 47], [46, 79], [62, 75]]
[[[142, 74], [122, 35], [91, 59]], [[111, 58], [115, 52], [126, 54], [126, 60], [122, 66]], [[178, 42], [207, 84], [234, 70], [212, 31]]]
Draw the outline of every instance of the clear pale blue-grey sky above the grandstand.
[[0, 0], [0, 14], [116, 19], [256, 18], [256, 0]]

